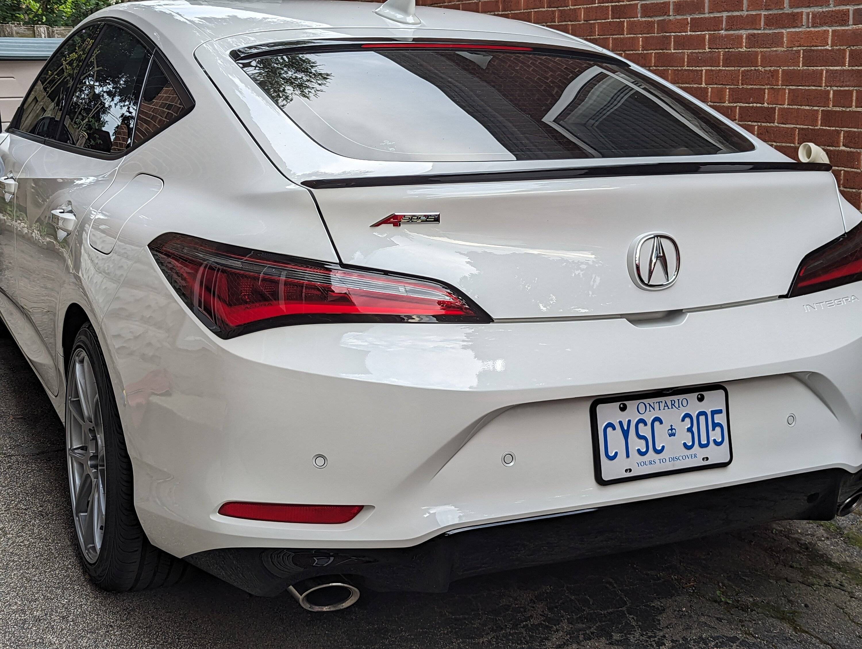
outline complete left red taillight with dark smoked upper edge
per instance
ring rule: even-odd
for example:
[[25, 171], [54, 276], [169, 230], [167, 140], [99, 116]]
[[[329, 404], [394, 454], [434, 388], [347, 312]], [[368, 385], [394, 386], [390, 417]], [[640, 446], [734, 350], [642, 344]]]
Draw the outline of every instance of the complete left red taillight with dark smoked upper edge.
[[174, 290], [222, 338], [313, 322], [490, 322], [465, 296], [425, 279], [184, 234], [163, 234], [149, 248]]

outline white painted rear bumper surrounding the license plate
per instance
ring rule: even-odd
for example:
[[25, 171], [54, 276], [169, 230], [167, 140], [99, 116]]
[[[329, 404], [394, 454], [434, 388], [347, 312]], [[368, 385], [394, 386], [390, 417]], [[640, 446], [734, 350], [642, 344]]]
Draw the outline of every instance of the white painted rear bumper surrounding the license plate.
[[[665, 327], [330, 324], [218, 340], [146, 257], [103, 335], [138, 514], [178, 556], [413, 546], [455, 527], [862, 468], [862, 300], [838, 299], [862, 284]], [[594, 397], [711, 383], [728, 388], [730, 465], [596, 483]], [[343, 525], [296, 525], [218, 515], [228, 500], [367, 507]]]

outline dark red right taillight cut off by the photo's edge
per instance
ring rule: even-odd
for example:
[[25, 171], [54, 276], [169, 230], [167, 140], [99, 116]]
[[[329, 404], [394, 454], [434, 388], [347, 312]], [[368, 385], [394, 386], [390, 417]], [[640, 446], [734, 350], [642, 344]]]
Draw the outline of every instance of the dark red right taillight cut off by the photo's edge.
[[862, 224], [808, 253], [788, 297], [803, 296], [862, 279]]

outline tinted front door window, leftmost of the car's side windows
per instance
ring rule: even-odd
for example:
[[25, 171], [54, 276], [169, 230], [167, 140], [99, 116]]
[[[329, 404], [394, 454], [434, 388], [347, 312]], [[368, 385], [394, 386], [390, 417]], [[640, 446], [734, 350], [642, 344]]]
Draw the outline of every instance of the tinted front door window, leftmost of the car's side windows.
[[84, 63], [99, 26], [84, 28], [66, 41], [42, 70], [24, 100], [17, 128], [25, 133], [53, 137], [69, 98], [75, 76]]

